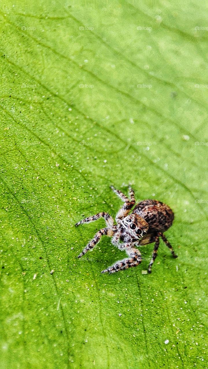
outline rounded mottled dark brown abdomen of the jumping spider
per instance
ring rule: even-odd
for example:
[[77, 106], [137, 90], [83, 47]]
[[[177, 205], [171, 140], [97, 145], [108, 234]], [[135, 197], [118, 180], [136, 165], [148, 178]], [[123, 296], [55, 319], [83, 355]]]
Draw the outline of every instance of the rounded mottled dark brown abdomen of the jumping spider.
[[133, 213], [140, 215], [149, 224], [149, 232], [151, 230], [167, 231], [174, 220], [171, 208], [157, 200], [141, 201], [135, 206]]

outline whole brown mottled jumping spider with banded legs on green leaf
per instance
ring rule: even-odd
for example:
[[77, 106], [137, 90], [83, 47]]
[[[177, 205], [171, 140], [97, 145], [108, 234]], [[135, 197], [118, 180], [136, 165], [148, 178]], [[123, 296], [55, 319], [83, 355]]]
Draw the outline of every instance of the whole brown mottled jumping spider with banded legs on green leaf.
[[76, 223], [76, 226], [78, 226], [103, 217], [107, 224], [107, 227], [95, 234], [94, 238], [87, 244], [81, 254], [78, 255], [78, 258], [85, 255], [87, 251], [92, 250], [103, 235], [112, 237], [112, 244], [127, 253], [128, 258], [117, 261], [109, 268], [104, 269], [101, 273], [114, 273], [139, 265], [142, 262], [141, 253], [135, 246], [148, 245], [155, 242], [152, 259], [148, 266], [148, 273], [151, 273], [152, 264], [157, 256], [160, 237], [170, 248], [172, 256], [177, 258], [171, 244], [163, 233], [170, 228], [174, 220], [174, 213], [171, 208], [161, 201], [143, 200], [138, 203], [134, 207], [132, 213], [129, 214], [132, 207], [135, 205], [135, 199], [134, 190], [132, 190], [130, 186], [128, 188], [130, 200], [121, 191], [111, 186], [111, 189], [124, 201], [124, 205], [115, 217], [117, 222], [116, 225], [114, 225], [114, 220], [108, 213], [98, 213]]

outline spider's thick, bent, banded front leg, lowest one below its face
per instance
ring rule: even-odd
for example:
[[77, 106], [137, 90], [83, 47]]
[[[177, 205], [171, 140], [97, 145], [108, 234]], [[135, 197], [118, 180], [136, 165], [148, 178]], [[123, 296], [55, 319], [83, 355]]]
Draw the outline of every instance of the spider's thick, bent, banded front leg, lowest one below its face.
[[138, 249], [134, 248], [131, 244], [125, 244], [124, 248], [129, 258], [117, 261], [109, 268], [102, 270], [101, 273], [109, 272], [111, 274], [119, 272], [119, 270], [132, 268], [142, 262], [141, 253]]

